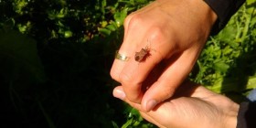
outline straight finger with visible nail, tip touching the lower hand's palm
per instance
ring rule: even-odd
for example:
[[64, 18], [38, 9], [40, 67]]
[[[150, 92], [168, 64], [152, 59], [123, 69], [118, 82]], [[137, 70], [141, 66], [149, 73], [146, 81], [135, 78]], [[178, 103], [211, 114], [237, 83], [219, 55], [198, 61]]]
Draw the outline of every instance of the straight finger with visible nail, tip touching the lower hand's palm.
[[193, 68], [196, 53], [185, 51], [170, 60], [169, 67], [165, 69], [158, 80], [144, 93], [142, 106], [145, 112], [152, 110], [156, 104], [173, 96], [176, 88], [187, 78], [187, 74]]

